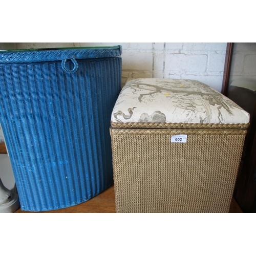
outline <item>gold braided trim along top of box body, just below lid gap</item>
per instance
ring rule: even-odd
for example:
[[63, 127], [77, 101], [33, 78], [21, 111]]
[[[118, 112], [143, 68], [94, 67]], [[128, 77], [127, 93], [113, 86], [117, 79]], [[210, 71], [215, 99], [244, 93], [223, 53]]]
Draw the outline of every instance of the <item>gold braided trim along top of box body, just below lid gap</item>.
[[234, 129], [112, 129], [110, 128], [111, 135], [178, 135], [178, 134], [187, 134], [187, 135], [246, 135], [247, 130], [234, 130]]

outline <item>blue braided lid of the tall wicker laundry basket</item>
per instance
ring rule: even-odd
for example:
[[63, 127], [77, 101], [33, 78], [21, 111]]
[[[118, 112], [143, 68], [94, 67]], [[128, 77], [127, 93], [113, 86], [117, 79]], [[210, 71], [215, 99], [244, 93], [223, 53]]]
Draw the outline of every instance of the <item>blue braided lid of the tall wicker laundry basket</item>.
[[121, 46], [0, 50], [0, 63], [108, 58], [117, 57], [121, 54]]

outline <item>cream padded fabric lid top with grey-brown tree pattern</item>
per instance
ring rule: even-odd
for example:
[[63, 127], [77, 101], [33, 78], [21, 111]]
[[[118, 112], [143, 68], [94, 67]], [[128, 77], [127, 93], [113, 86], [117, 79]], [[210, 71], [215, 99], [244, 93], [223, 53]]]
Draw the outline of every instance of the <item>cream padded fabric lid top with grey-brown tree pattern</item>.
[[140, 78], [125, 84], [111, 121], [247, 124], [249, 114], [196, 80]]

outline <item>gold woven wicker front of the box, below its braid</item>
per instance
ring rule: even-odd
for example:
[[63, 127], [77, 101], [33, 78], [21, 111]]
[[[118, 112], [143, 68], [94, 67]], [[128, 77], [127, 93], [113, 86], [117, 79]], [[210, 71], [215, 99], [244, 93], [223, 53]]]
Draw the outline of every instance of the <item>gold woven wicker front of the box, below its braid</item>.
[[117, 212], [228, 212], [246, 131], [171, 143], [180, 130], [121, 130], [111, 130]]

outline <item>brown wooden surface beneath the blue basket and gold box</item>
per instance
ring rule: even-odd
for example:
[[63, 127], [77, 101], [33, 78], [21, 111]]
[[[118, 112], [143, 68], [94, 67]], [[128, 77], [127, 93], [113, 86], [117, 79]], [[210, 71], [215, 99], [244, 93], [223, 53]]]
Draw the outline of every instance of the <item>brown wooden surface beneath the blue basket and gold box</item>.
[[[0, 143], [0, 154], [7, 154], [5, 143]], [[29, 213], [31, 211], [22, 211], [18, 209], [15, 213]], [[68, 208], [63, 208], [59, 210], [51, 210], [51, 211], [41, 211], [45, 213], [72, 213], [72, 212], [91, 212], [91, 213], [114, 213], [115, 212], [115, 193], [114, 193], [114, 186], [109, 187], [108, 189], [104, 190], [98, 196], [90, 199], [87, 202], [71, 206]], [[239, 205], [237, 204], [236, 200], [232, 198], [230, 209], [230, 213], [242, 213]], [[31, 212], [34, 213], [34, 212]], [[36, 212], [40, 213], [40, 212]]]

